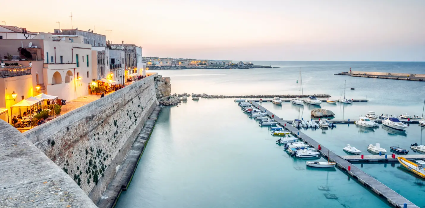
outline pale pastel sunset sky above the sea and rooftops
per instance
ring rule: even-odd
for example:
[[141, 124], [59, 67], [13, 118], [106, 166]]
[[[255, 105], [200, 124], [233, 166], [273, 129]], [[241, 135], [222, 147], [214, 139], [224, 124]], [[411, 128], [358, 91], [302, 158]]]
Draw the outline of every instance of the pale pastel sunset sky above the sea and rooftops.
[[142, 46], [143, 56], [425, 61], [424, 0], [20, 0], [2, 8], [1, 21], [32, 32], [53, 32], [57, 22], [70, 29], [72, 11], [74, 28]]

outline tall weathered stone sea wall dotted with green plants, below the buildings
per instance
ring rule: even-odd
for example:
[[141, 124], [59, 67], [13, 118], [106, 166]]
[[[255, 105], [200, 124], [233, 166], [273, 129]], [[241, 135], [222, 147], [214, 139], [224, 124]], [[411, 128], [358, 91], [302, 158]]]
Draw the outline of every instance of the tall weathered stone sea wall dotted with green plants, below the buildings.
[[[133, 82], [23, 135], [97, 202], [159, 104], [156, 76]], [[166, 85], [162, 92], [167, 92]]]

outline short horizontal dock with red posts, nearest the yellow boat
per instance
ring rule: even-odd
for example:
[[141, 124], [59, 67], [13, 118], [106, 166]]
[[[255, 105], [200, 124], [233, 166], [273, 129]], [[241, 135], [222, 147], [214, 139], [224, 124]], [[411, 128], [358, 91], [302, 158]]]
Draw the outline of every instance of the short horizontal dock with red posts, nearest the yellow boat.
[[[393, 152], [387, 152], [393, 153]], [[363, 159], [361, 155], [344, 155], [340, 156], [344, 160], [348, 162], [357, 162], [357, 163], [369, 163], [369, 162], [377, 162], [377, 163], [388, 163], [388, 162], [397, 162], [397, 157], [402, 156], [408, 160], [425, 160], [425, 155], [397, 155], [396, 158], [392, 158], [391, 155], [363, 155]]]

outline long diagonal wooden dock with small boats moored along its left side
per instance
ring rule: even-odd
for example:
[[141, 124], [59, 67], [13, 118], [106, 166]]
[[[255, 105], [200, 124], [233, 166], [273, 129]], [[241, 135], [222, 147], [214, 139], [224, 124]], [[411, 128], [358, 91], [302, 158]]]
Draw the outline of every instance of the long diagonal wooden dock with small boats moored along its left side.
[[[250, 102], [252, 102], [252, 104], [255, 107], [258, 107], [260, 110], [267, 112], [267, 114], [270, 117], [273, 117], [276, 121], [278, 121], [279, 124], [283, 126], [286, 130], [291, 131], [292, 134], [295, 135], [295, 137], [307, 142], [309, 145], [318, 149], [318, 146], [320, 145], [320, 143], [310, 138], [309, 136], [301, 132], [299, 129], [296, 129], [294, 126], [290, 125], [286, 121], [283, 121], [282, 118], [279, 118], [277, 115], [273, 114], [271, 111], [262, 107], [257, 102], [253, 100], [250, 100]], [[323, 157], [326, 157], [326, 158], [329, 157], [329, 160], [337, 163], [338, 168], [342, 169], [343, 171], [346, 171], [349, 175], [357, 179], [365, 187], [370, 187], [372, 191], [378, 194], [378, 196], [384, 197], [391, 205], [402, 208], [404, 204], [407, 204], [408, 208], [419, 208], [414, 203], [402, 197], [400, 194], [397, 194], [397, 192], [393, 191], [391, 188], [388, 188], [388, 186], [385, 186], [384, 184], [376, 180], [374, 177], [371, 177], [370, 175], [360, 170], [359, 168], [357, 168], [356, 166], [354, 166], [353, 164], [351, 164], [344, 158], [330, 151], [325, 146], [320, 145], [320, 147], [321, 147], [321, 150], [318, 150], [318, 151]], [[329, 155], [328, 155], [328, 152], [329, 152]], [[350, 167], [350, 170], [348, 170], [348, 167]]]

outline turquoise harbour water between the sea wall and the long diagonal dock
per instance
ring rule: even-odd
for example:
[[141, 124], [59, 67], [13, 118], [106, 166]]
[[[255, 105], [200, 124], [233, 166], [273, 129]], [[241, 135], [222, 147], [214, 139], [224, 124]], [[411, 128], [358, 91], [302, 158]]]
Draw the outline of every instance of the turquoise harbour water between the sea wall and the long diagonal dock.
[[275, 140], [232, 99], [164, 107], [117, 207], [389, 207], [340, 170], [307, 168]]

